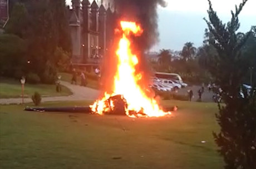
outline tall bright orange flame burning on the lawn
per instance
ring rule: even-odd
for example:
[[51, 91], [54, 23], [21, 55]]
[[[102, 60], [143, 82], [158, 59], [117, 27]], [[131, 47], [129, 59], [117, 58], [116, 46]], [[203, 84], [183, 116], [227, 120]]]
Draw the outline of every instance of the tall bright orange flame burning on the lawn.
[[[121, 95], [126, 100], [127, 107], [125, 109], [126, 115], [130, 117], [147, 116], [159, 117], [170, 115], [171, 112], [165, 112], [160, 109], [154, 98], [149, 98], [145, 91], [139, 85], [142, 78], [140, 73], [136, 73], [135, 66], [139, 60], [135, 54], [132, 54], [130, 48], [129, 35], [141, 35], [143, 30], [135, 22], [121, 21], [121, 28], [123, 31], [122, 38], [119, 41], [119, 48], [116, 51], [118, 59], [117, 71], [115, 74], [113, 91], [111, 94], [105, 93], [104, 98], [96, 100], [91, 105], [91, 110], [97, 114], [104, 114], [115, 107], [114, 103], [109, 100], [112, 96]], [[135, 114], [130, 114], [130, 112]]]

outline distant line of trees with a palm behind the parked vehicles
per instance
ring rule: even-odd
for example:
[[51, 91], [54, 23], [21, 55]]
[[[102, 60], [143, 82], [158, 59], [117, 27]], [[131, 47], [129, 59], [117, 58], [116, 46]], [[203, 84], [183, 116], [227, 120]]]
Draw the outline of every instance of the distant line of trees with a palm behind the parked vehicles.
[[[256, 81], [256, 25], [247, 33], [236, 33], [237, 40], [241, 41], [248, 34], [248, 39], [241, 49], [243, 63], [249, 71], [244, 75], [243, 81], [252, 85]], [[218, 69], [216, 66], [216, 58], [218, 51], [211, 45], [214, 42], [214, 35], [205, 29], [203, 45], [195, 48], [192, 42], [187, 42], [181, 51], [173, 51], [170, 49], [161, 49], [157, 54], [157, 60], [151, 60], [151, 65], [156, 71], [164, 71], [168, 73], [179, 73], [184, 80], [192, 83], [209, 83], [214, 81], [211, 71]], [[240, 63], [242, 64], [242, 63]]]

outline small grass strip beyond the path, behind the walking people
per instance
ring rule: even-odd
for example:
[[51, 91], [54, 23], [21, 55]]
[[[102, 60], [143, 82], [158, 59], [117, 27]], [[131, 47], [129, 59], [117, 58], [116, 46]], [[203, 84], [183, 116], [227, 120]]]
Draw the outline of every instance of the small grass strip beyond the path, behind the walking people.
[[[61, 80], [71, 82], [72, 74], [70, 73], [59, 73], [61, 75]], [[87, 80], [87, 87], [92, 89], [99, 89], [99, 83], [96, 80], [86, 79]], [[77, 84], [81, 84], [81, 76], [77, 75]]]

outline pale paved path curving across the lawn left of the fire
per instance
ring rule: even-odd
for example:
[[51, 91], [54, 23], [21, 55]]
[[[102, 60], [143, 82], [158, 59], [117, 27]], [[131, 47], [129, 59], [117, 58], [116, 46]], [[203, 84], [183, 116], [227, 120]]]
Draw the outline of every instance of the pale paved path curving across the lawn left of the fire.
[[[72, 91], [70, 96], [55, 96], [55, 97], [44, 97], [42, 102], [46, 101], [77, 101], [77, 100], [95, 100], [98, 98], [100, 92], [99, 90], [86, 88], [79, 85], [72, 85], [66, 81], [61, 81], [63, 86], [66, 86]], [[24, 103], [33, 102], [31, 98], [24, 98]], [[0, 99], [0, 104], [21, 104], [21, 98], [10, 98], [10, 99]]]

